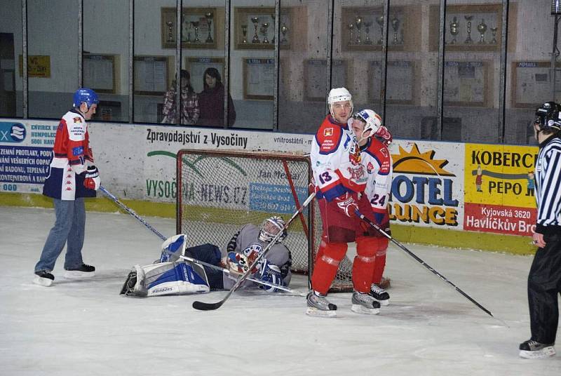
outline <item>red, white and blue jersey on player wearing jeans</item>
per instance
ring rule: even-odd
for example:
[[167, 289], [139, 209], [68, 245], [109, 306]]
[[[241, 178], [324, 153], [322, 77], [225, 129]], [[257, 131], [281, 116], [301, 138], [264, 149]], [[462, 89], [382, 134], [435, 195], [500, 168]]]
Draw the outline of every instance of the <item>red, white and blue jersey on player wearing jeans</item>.
[[93, 162], [86, 119], [76, 109], [67, 112], [58, 124], [53, 159], [43, 185], [43, 194], [53, 199], [74, 200], [95, 197], [94, 189], [83, 186], [87, 162]]

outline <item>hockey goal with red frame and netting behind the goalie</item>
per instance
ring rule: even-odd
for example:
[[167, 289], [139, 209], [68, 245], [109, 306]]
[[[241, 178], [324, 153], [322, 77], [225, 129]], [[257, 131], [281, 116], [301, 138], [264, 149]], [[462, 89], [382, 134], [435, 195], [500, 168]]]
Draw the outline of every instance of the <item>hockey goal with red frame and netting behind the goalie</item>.
[[[177, 234], [188, 245], [212, 243], [223, 251], [243, 226], [267, 217], [288, 220], [309, 196], [311, 164], [297, 154], [182, 149], [177, 153]], [[311, 275], [321, 236], [317, 201], [292, 221], [283, 241], [292, 271]], [[334, 291], [351, 288], [351, 265], [342, 262]]]

